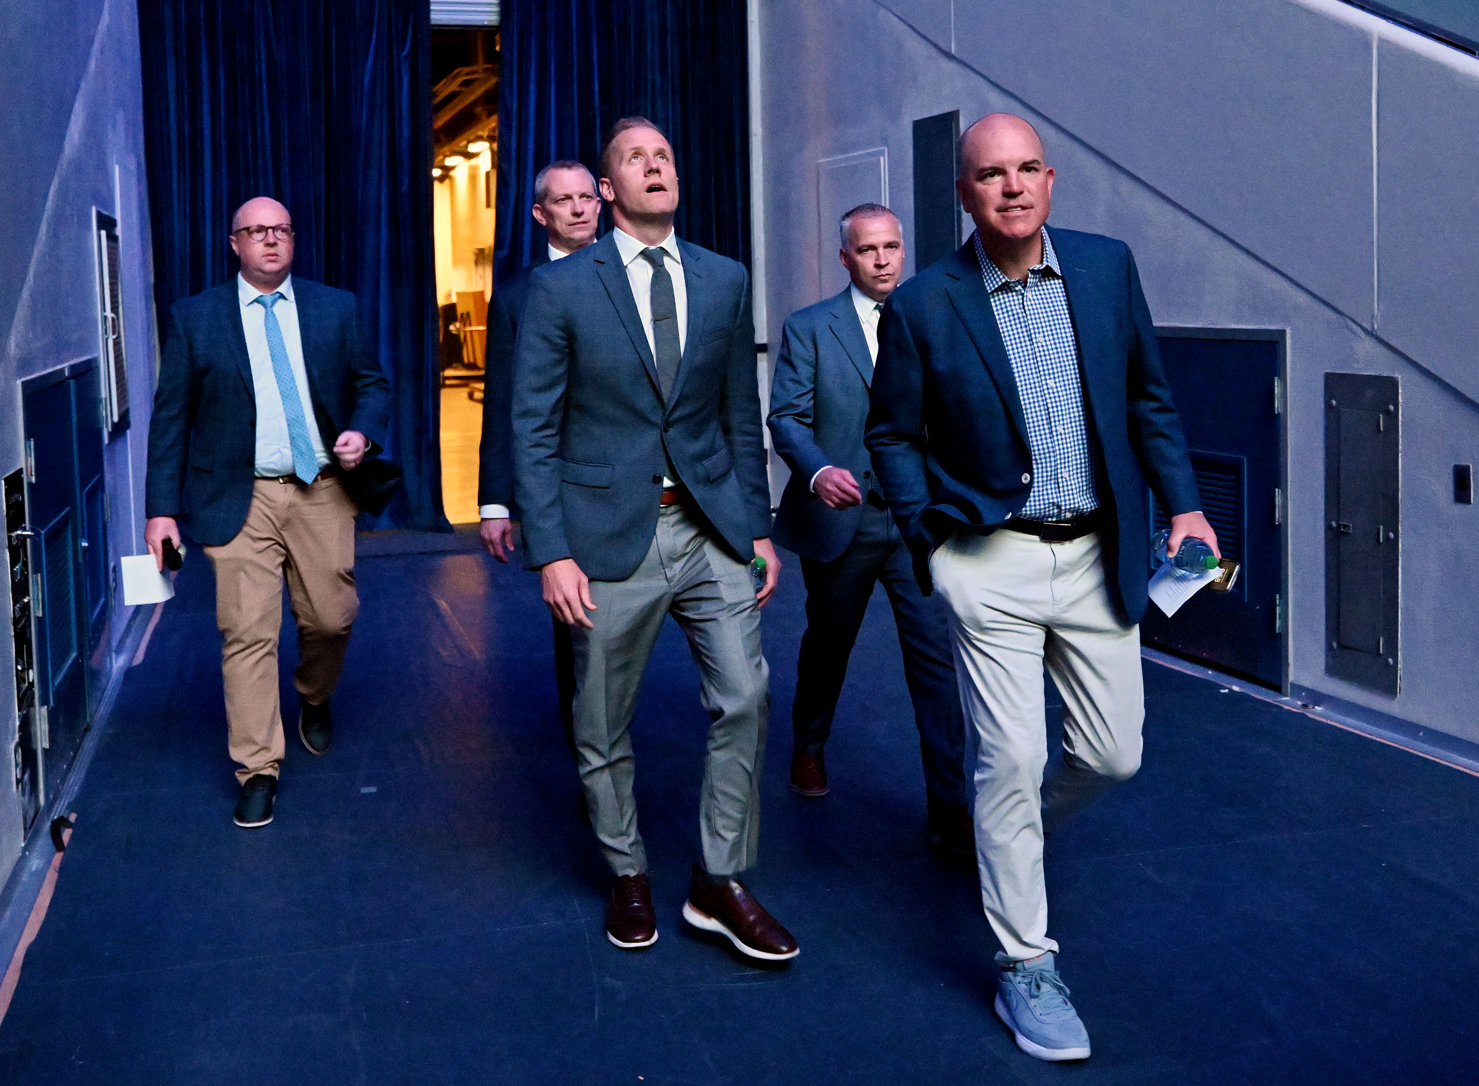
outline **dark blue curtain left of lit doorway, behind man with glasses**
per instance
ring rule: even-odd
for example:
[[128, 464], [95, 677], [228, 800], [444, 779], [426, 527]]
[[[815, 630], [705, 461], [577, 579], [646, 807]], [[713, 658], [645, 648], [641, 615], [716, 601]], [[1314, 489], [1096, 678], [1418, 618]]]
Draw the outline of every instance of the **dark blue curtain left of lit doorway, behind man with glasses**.
[[405, 488], [368, 527], [442, 513], [426, 0], [139, 0], [161, 321], [235, 275], [231, 213], [293, 213], [293, 272], [359, 300], [392, 387]]

